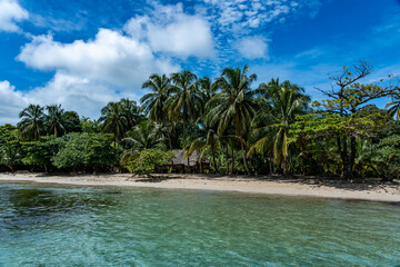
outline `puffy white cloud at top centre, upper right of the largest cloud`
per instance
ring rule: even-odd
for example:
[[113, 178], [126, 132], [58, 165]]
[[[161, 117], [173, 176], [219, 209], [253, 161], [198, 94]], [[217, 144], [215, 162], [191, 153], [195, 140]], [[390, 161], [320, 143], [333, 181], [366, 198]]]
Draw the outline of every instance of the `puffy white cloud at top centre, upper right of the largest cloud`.
[[151, 16], [132, 18], [124, 30], [132, 38], [147, 40], [156, 52], [183, 58], [209, 58], [214, 55], [210, 23], [200, 16], [184, 13], [181, 3], [156, 4]]

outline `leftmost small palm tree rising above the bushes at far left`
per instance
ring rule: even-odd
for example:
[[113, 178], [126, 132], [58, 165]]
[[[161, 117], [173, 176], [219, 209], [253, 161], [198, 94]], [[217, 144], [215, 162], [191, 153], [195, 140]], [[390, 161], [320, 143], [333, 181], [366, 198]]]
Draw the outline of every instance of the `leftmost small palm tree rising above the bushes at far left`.
[[18, 127], [21, 129], [23, 140], [40, 139], [40, 134], [43, 131], [43, 109], [44, 108], [39, 105], [31, 103], [19, 113], [22, 120], [18, 122]]

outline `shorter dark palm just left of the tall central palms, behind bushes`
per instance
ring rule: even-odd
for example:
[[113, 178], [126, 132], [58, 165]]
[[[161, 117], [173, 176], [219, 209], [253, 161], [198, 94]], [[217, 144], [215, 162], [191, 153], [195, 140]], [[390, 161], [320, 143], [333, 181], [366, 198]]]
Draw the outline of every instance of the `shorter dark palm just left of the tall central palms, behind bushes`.
[[129, 119], [120, 102], [109, 102], [102, 108], [100, 121], [102, 121], [102, 131], [113, 134], [117, 141], [121, 141], [128, 131]]

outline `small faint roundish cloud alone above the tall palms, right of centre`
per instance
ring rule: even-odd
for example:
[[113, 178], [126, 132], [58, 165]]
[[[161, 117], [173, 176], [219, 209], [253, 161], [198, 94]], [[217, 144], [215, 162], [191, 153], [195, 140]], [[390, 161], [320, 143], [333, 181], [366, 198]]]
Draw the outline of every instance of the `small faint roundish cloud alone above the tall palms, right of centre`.
[[268, 59], [268, 43], [262, 37], [246, 37], [236, 44], [237, 50], [246, 59]]

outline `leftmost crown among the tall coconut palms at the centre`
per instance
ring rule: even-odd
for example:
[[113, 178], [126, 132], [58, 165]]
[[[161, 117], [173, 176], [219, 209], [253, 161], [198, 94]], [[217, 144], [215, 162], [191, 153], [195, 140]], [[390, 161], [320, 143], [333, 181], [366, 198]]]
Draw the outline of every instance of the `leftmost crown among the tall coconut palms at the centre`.
[[142, 89], [151, 91], [140, 99], [142, 108], [149, 116], [149, 119], [153, 121], [164, 121], [167, 119], [164, 106], [171, 93], [170, 79], [166, 75], [159, 76], [153, 73], [149, 80], [142, 85]]

